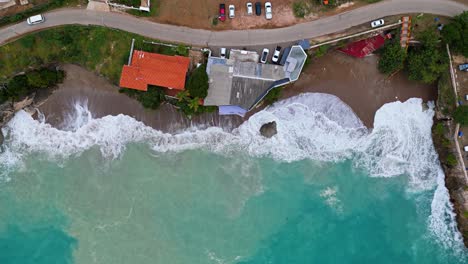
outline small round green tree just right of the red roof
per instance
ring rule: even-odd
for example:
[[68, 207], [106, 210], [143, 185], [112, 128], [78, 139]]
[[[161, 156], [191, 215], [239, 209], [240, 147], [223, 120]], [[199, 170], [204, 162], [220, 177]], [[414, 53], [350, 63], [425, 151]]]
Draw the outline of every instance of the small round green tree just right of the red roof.
[[406, 51], [397, 41], [387, 43], [379, 59], [379, 71], [385, 74], [391, 74], [403, 69], [406, 59]]

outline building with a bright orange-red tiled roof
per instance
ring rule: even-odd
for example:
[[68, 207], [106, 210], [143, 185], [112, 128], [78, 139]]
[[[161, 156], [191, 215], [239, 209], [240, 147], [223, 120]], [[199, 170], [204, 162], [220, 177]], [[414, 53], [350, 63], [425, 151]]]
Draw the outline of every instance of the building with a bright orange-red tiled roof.
[[147, 91], [148, 85], [154, 85], [175, 96], [185, 90], [189, 64], [187, 57], [132, 50], [128, 65], [122, 68], [120, 87]]

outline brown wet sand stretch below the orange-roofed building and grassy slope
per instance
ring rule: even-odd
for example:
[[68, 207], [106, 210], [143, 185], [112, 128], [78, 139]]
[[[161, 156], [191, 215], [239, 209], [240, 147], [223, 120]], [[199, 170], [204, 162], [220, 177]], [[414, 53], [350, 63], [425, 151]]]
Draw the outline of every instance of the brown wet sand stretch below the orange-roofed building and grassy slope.
[[190, 120], [169, 104], [161, 105], [158, 110], [148, 110], [137, 100], [119, 93], [117, 86], [95, 73], [76, 65], [63, 65], [62, 68], [67, 72], [65, 81], [39, 107], [46, 122], [54, 127], [63, 128], [63, 120], [73, 111], [75, 103], [86, 100], [93, 118], [125, 114], [155, 129], [170, 133], [189, 127], [207, 126], [232, 130], [243, 122], [241, 117], [219, 116], [217, 113], [196, 116]]

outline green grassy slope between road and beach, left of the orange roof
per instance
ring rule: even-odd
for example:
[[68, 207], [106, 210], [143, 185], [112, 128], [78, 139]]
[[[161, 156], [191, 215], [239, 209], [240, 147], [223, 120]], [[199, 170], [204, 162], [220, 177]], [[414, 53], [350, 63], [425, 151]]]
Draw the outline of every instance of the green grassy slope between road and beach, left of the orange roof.
[[0, 82], [25, 69], [53, 63], [73, 63], [97, 72], [112, 83], [120, 79], [132, 38], [135, 49], [175, 55], [177, 48], [143, 42], [143, 37], [120, 30], [69, 25], [27, 35], [0, 47]]

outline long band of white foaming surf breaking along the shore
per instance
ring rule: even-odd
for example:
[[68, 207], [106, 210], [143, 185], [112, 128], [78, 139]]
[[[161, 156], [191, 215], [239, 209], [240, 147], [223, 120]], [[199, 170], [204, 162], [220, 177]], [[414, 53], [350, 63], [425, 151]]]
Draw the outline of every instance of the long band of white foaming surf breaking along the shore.
[[[302, 94], [260, 111], [232, 132], [210, 127], [176, 135], [162, 133], [125, 115], [92, 118], [86, 105], [77, 105], [66, 130], [34, 120], [20, 111], [3, 128], [5, 150], [0, 166], [8, 169], [25, 153], [47, 153], [67, 158], [99, 147], [103, 156], [116, 158], [130, 142], [147, 142], [156, 152], [204, 148], [223, 155], [242, 151], [278, 161], [351, 159], [375, 177], [408, 175], [411, 190], [435, 191], [430, 226], [437, 236], [460, 239], [431, 138], [433, 105], [421, 99], [393, 102], [380, 108], [369, 131], [339, 98], [320, 93]], [[277, 123], [277, 135], [267, 139], [259, 128]], [[447, 217], [449, 219], [447, 219]]]

